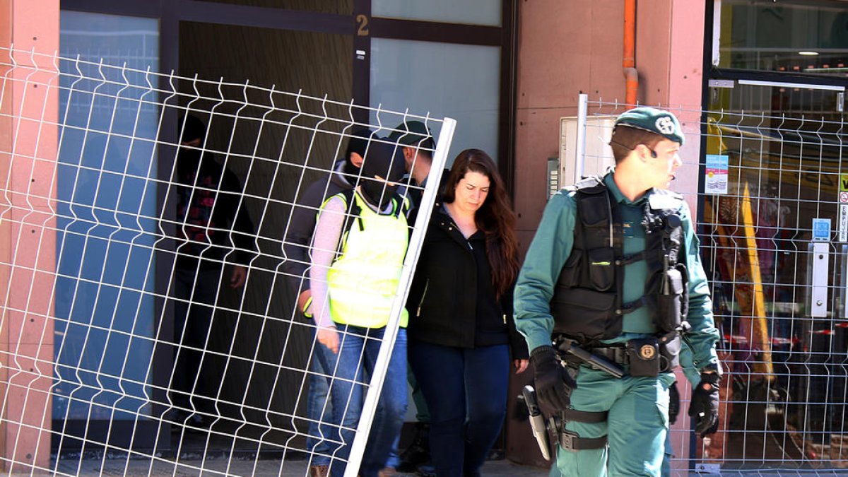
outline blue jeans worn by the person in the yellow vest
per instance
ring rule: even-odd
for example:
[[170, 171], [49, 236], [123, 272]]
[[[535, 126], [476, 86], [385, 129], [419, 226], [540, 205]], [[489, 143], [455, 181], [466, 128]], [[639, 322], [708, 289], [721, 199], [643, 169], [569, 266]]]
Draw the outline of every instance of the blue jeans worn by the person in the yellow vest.
[[[334, 370], [330, 379], [332, 401], [332, 435], [330, 473], [343, 475], [350, 455], [350, 446], [360, 422], [365, 389], [377, 362], [386, 328], [360, 328], [338, 326], [339, 351], [335, 355], [324, 345], [319, 358], [327, 370]], [[377, 412], [371, 424], [371, 433], [365, 445], [365, 455], [360, 465], [361, 477], [376, 477], [388, 462], [389, 452], [406, 414], [406, 329], [398, 330], [398, 337], [389, 359], [386, 379], [377, 402]]]

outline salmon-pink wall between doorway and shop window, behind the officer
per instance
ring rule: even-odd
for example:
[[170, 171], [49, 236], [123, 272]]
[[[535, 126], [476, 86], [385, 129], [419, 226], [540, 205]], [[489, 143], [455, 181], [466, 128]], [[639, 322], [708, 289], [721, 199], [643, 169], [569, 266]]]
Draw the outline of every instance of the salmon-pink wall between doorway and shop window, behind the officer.
[[[538, 227], [547, 201], [548, 158], [559, 155], [560, 118], [577, 115], [577, 94], [588, 93], [590, 100], [628, 102], [627, 78], [622, 75], [622, 28], [625, 21], [622, 0], [533, 0], [521, 2], [518, 41], [516, 93], [516, 189], [514, 204], [518, 214], [518, 234], [526, 250]], [[691, 0], [650, 0], [638, 2], [633, 58], [638, 58], [641, 104], [674, 109], [683, 125], [687, 141], [681, 150], [683, 173], [672, 188], [683, 194], [695, 214], [698, 210], [698, 171], [700, 164], [701, 81], [705, 6]], [[629, 26], [629, 24], [628, 24]], [[625, 56], [630, 56], [625, 53]], [[625, 65], [627, 67], [628, 65]], [[635, 77], [635, 76], [634, 76]], [[618, 109], [616, 112], [621, 112]], [[601, 111], [605, 112], [605, 111]], [[566, 185], [565, 183], [562, 185]], [[529, 381], [527, 375], [515, 384]], [[685, 379], [678, 376], [681, 388]], [[689, 399], [689, 390], [684, 390]], [[689, 419], [684, 407], [672, 429], [674, 475], [687, 474]], [[507, 424], [507, 457], [519, 463], [548, 466], [535, 449], [526, 420], [510, 419]]]

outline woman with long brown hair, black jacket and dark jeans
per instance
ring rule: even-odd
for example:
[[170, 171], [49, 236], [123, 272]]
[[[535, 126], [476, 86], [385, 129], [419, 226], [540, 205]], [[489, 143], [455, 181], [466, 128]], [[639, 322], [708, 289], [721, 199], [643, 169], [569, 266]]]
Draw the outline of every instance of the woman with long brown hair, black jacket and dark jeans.
[[409, 362], [430, 411], [438, 477], [480, 474], [506, 413], [510, 354], [527, 368], [512, 320], [516, 216], [494, 160], [455, 159], [433, 208], [410, 299]]

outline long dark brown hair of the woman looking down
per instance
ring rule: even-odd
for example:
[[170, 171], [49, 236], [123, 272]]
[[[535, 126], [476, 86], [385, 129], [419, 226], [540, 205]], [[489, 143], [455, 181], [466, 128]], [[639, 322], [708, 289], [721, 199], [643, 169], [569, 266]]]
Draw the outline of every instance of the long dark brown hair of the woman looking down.
[[518, 277], [516, 214], [512, 211], [498, 167], [480, 149], [466, 149], [456, 156], [444, 185], [442, 197], [445, 203], [452, 203], [456, 199], [456, 185], [469, 171], [483, 174], [489, 181], [488, 195], [474, 214], [474, 222], [486, 236], [486, 255], [492, 267], [492, 285], [500, 298]]

